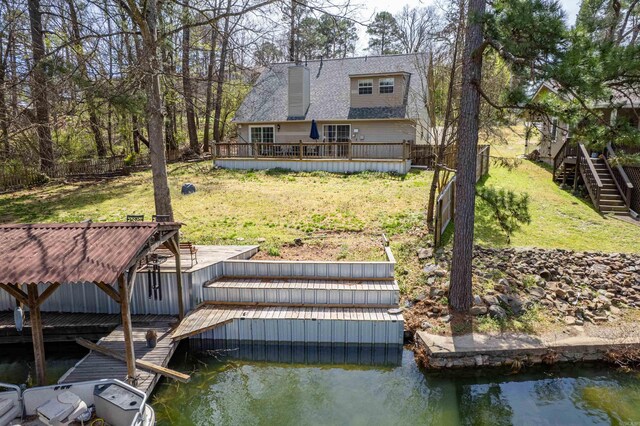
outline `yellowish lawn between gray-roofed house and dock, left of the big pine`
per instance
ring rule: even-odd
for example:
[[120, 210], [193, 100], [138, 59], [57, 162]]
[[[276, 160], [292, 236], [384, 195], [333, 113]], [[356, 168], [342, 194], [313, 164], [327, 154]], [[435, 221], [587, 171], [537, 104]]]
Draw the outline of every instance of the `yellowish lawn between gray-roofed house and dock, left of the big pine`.
[[[381, 234], [419, 225], [430, 172], [382, 173], [210, 170], [210, 163], [169, 166], [175, 219], [198, 244], [255, 244], [283, 255], [305, 239], [298, 257], [383, 259]], [[197, 192], [180, 194], [192, 182]], [[150, 172], [99, 183], [52, 184], [0, 195], [0, 222], [123, 221], [154, 212]], [[323, 246], [326, 250], [319, 252]], [[327, 249], [328, 248], [328, 249]], [[300, 250], [298, 250], [300, 252]]]

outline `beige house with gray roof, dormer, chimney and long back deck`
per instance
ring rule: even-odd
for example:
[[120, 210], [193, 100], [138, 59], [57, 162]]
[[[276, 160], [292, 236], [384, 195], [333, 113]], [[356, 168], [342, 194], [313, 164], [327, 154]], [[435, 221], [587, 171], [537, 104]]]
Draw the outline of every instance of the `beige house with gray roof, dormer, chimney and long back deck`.
[[409, 146], [429, 138], [426, 66], [424, 54], [273, 64], [235, 114], [238, 140], [216, 144], [215, 163], [406, 173]]

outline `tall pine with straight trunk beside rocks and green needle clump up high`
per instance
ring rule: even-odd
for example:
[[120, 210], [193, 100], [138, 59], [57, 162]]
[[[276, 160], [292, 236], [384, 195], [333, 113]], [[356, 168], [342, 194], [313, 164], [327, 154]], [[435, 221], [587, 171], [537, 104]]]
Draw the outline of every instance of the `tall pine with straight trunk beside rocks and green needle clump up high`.
[[[553, 1], [497, 1], [492, 3], [491, 13], [488, 14], [485, 0], [469, 1], [458, 124], [455, 233], [449, 287], [449, 303], [453, 310], [468, 310], [473, 297], [475, 164], [480, 99], [484, 99], [494, 108], [504, 108], [489, 98], [482, 88], [482, 62], [485, 50], [488, 47], [493, 48], [508, 61], [516, 76], [544, 70], [545, 64], [561, 54], [561, 41], [564, 37], [563, 18], [561, 8]], [[521, 86], [514, 85], [513, 89], [514, 93], [524, 92]]]

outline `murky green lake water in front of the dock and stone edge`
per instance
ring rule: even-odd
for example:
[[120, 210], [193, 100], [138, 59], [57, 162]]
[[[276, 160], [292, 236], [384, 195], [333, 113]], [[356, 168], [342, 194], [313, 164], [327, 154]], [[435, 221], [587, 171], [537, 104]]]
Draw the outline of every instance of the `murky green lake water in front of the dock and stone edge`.
[[[0, 381], [25, 383], [29, 354], [30, 346], [0, 353]], [[47, 347], [49, 381], [82, 355], [69, 345]], [[389, 360], [393, 356], [383, 361]], [[219, 361], [181, 348], [172, 367], [192, 372], [191, 382], [164, 380], [152, 405], [159, 425], [640, 424], [637, 372], [558, 365], [520, 374], [425, 374], [406, 350], [395, 362], [399, 365]]]

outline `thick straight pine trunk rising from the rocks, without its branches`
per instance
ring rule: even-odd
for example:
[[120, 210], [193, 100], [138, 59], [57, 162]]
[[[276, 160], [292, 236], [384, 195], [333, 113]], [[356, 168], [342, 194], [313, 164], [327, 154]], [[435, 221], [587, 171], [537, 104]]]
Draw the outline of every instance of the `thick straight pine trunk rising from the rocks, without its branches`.
[[470, 0], [462, 63], [462, 96], [458, 125], [458, 154], [455, 199], [455, 232], [449, 304], [467, 311], [473, 303], [473, 224], [475, 220], [476, 155], [482, 77], [483, 22], [486, 0]]

